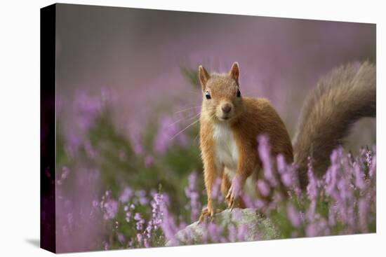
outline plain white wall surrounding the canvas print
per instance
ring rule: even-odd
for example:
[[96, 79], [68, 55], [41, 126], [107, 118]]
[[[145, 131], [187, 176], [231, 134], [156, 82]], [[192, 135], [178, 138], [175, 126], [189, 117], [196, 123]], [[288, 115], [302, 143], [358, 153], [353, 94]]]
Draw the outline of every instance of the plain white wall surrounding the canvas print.
[[[208, 13], [377, 23], [378, 232], [268, 242], [183, 246], [68, 256], [380, 256], [385, 242], [385, 46], [382, 1], [62, 1]], [[219, 2], [219, 1], [218, 1]], [[0, 8], [0, 255], [49, 256], [39, 249], [39, 8], [53, 1], [3, 1]]]

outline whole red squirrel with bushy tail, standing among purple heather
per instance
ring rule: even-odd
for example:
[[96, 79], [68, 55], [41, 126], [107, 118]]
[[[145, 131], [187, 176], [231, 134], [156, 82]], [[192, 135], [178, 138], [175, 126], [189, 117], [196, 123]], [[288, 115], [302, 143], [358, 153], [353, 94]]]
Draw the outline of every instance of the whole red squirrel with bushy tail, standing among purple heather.
[[220, 211], [211, 195], [218, 177], [229, 208], [245, 207], [239, 196], [247, 181], [257, 190], [262, 168], [257, 151], [260, 134], [269, 137], [272, 155], [281, 153], [287, 163], [298, 165], [300, 186], [305, 188], [307, 158], [312, 156], [315, 172], [323, 174], [331, 151], [342, 143], [350, 126], [361, 117], [375, 117], [375, 66], [369, 62], [339, 67], [319, 81], [302, 108], [294, 144], [267, 99], [241, 95], [239, 76], [237, 62], [227, 74], [208, 74], [199, 66], [200, 148], [208, 195], [200, 221]]

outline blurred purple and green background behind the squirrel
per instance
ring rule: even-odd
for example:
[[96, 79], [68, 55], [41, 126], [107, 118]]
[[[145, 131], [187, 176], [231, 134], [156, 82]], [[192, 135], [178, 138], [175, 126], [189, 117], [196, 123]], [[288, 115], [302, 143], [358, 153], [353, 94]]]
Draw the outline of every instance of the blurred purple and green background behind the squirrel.
[[[144, 216], [161, 190], [173, 215], [191, 222], [189, 174], [204, 190], [194, 123], [199, 64], [227, 72], [239, 62], [241, 93], [267, 97], [293, 137], [321, 76], [347, 62], [375, 62], [371, 24], [67, 4], [57, 5], [56, 19], [58, 251], [127, 247], [131, 230], [118, 228], [125, 216], [114, 202], [129, 202], [130, 190]], [[373, 144], [368, 119], [345, 147]], [[109, 200], [112, 209], [94, 212]]]

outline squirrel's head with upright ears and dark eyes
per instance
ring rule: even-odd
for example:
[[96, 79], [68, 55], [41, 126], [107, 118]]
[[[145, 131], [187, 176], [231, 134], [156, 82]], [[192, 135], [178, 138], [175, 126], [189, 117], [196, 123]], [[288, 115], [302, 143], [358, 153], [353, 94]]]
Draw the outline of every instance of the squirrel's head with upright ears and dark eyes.
[[234, 62], [227, 74], [208, 74], [199, 66], [199, 81], [202, 87], [201, 113], [221, 122], [237, 118], [242, 111], [242, 97], [239, 89], [239, 64]]

